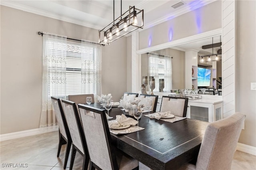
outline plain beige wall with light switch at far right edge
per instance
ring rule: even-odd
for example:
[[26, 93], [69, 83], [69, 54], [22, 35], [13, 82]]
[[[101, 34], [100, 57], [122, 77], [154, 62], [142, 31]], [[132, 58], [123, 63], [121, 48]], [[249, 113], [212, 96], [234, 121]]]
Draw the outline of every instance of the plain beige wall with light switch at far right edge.
[[239, 142], [256, 147], [256, 1], [237, 1], [236, 96], [237, 111], [246, 114]]

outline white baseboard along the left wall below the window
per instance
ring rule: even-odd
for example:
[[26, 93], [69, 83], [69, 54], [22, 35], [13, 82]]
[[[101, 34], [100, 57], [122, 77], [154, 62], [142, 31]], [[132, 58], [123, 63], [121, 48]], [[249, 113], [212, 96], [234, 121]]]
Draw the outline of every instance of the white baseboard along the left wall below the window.
[[57, 131], [58, 129], [59, 129], [59, 127], [57, 125], [57, 126], [53, 126], [53, 127], [35, 128], [35, 129], [24, 130], [24, 131], [20, 131], [20, 132], [1, 134], [0, 141], [22, 138], [22, 137], [26, 137], [26, 136], [32, 136], [32, 135], [42, 134], [42, 133], [47, 133], [47, 132], [53, 132], [53, 131]]

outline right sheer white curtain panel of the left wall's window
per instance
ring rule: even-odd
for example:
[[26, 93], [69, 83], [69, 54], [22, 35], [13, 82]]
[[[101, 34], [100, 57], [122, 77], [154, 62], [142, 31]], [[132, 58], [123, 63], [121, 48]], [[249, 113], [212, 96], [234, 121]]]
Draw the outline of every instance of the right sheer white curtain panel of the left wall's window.
[[82, 40], [82, 93], [101, 95], [101, 45]]

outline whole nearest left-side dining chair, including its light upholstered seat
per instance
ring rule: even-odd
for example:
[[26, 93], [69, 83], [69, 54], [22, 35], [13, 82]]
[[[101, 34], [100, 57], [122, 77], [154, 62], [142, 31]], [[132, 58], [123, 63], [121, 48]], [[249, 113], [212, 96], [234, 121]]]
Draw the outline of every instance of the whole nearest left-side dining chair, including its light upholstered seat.
[[138, 160], [111, 144], [104, 110], [81, 104], [78, 104], [78, 108], [90, 154], [89, 169], [132, 170], [138, 168]]

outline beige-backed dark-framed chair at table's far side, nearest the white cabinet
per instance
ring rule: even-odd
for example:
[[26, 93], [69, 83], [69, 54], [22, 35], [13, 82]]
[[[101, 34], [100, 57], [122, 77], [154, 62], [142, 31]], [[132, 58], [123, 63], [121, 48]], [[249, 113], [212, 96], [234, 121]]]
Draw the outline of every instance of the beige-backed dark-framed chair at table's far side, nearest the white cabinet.
[[160, 112], [170, 111], [172, 115], [186, 117], [188, 108], [188, 98], [163, 96]]

